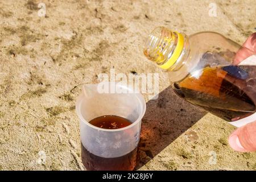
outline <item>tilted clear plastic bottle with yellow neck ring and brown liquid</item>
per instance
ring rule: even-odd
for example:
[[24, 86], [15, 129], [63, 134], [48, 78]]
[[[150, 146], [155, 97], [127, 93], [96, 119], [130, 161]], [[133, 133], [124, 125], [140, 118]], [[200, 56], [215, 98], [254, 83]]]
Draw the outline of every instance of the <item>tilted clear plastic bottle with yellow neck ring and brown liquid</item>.
[[[238, 51], [250, 57], [241, 62]], [[168, 72], [175, 93], [191, 104], [229, 122], [255, 113], [255, 51], [216, 32], [187, 36], [157, 27], [144, 55]]]

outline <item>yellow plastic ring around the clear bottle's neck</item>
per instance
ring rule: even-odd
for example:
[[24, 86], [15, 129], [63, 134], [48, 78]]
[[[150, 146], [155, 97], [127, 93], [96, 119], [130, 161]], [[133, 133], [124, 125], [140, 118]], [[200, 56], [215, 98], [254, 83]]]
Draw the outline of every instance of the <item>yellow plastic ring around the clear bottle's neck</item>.
[[184, 37], [179, 32], [175, 32], [175, 33], [177, 34], [177, 45], [176, 45], [174, 52], [172, 53], [172, 56], [170, 57], [170, 59], [168, 59], [168, 61], [166, 63], [159, 65], [159, 67], [162, 69], [169, 69], [172, 65], [174, 65], [174, 63], [176, 63], [177, 59], [179, 58], [179, 56], [183, 50]]

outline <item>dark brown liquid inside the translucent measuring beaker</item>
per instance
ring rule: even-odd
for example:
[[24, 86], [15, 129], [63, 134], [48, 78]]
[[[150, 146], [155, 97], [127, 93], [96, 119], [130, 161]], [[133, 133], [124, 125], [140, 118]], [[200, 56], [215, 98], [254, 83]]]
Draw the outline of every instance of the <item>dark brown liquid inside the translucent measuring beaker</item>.
[[[116, 115], [104, 115], [92, 119], [89, 123], [102, 129], [121, 129], [122, 127], [131, 125], [132, 122]], [[82, 143], [81, 148], [82, 163], [87, 170], [131, 171], [136, 165], [137, 148], [129, 154], [119, 156], [117, 158], [102, 158], [101, 156], [94, 155], [86, 150]]]

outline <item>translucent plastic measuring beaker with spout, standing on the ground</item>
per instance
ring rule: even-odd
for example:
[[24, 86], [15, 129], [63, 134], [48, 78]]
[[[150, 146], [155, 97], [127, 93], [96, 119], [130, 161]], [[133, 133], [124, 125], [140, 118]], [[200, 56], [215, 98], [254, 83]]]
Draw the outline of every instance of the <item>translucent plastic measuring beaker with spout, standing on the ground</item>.
[[[117, 82], [84, 85], [76, 102], [76, 112], [80, 119], [82, 162], [85, 168], [133, 170], [145, 111], [143, 96], [126, 85]], [[116, 115], [132, 123], [121, 129], [102, 129], [89, 123], [104, 115]]]

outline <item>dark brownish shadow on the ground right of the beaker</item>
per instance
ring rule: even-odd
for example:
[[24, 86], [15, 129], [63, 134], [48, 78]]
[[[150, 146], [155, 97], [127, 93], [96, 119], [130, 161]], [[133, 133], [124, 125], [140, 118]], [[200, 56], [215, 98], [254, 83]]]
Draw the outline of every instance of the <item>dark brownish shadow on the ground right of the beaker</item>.
[[171, 86], [147, 102], [138, 147], [138, 169], [202, 118], [206, 111], [177, 96]]

